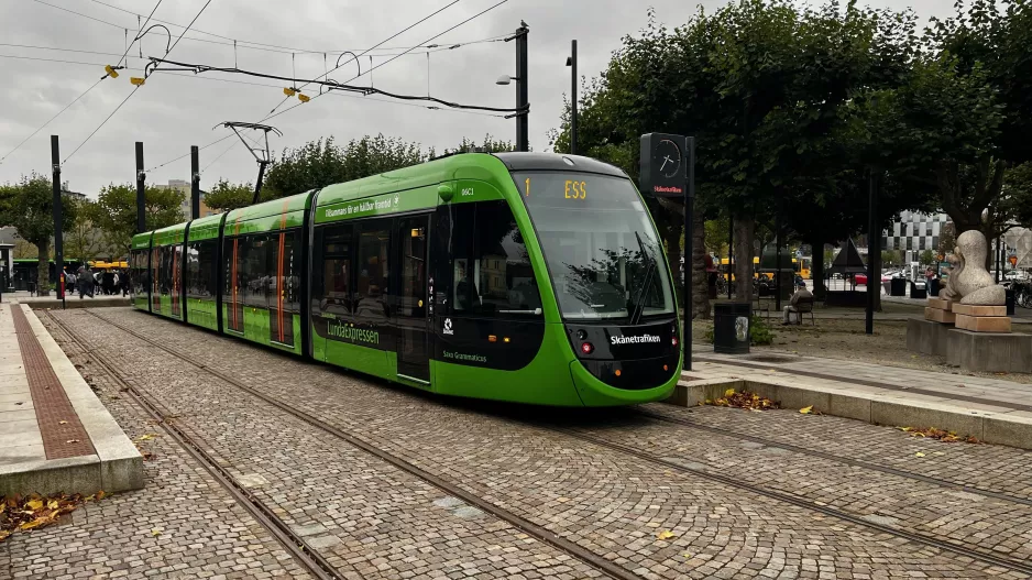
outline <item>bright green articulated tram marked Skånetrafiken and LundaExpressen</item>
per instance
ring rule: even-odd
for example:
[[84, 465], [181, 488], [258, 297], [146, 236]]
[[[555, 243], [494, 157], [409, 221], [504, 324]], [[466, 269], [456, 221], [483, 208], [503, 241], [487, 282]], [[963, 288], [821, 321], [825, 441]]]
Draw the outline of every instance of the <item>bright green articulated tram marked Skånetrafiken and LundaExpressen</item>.
[[669, 266], [633, 182], [463, 153], [138, 234], [135, 308], [444, 395], [667, 397]]

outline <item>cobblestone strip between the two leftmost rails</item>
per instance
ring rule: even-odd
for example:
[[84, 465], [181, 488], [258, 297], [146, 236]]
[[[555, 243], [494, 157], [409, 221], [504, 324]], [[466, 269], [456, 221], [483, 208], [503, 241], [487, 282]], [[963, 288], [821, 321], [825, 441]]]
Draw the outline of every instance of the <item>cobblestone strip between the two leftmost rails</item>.
[[[90, 329], [99, 320], [89, 316], [63, 319], [91, 348], [122, 339], [96, 340]], [[136, 351], [127, 343], [109, 354], [133, 360], [120, 369], [129, 382], [160, 401], [177, 426], [342, 572], [366, 579], [599, 576], [232, 385], [167, 357], [133, 358]]]

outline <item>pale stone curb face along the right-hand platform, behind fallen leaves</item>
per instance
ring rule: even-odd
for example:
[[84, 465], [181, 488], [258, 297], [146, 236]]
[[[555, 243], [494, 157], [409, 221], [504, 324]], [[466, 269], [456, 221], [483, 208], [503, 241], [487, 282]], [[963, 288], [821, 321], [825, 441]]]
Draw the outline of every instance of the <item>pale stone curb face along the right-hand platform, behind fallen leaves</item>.
[[1032, 413], [885, 390], [859, 391], [847, 384], [800, 386], [788, 376], [681, 381], [666, 402], [695, 406], [724, 396], [728, 389], [748, 390], [787, 409], [813, 405], [814, 412], [825, 415], [893, 427], [936, 427], [981, 442], [1032, 449]]

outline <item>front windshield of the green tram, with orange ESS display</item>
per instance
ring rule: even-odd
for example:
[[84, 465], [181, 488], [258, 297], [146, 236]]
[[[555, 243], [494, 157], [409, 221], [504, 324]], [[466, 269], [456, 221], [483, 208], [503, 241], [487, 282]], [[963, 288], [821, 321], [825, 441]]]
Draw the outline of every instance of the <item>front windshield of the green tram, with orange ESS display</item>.
[[673, 313], [659, 236], [628, 179], [561, 172], [513, 176], [564, 318], [637, 324]]

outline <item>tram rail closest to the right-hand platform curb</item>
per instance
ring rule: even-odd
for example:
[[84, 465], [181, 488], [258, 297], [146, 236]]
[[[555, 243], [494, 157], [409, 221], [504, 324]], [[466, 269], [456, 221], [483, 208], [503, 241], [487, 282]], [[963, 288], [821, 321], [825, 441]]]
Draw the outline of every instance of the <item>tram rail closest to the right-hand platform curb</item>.
[[932, 477], [929, 477], [929, 475], [922, 475], [922, 474], [920, 474], [920, 473], [913, 473], [913, 472], [911, 472], [911, 471], [907, 471], [907, 470], [902, 470], [902, 469], [897, 469], [897, 468], [891, 468], [891, 467], [888, 467], [888, 466], [882, 466], [882, 464], [880, 464], [880, 463], [874, 463], [874, 462], [871, 462], [871, 461], [865, 461], [865, 460], [863, 460], [863, 459], [853, 459], [853, 458], [848, 458], [848, 457], [843, 457], [843, 456], [837, 455], [837, 453], [831, 453], [831, 452], [827, 452], [827, 451], [820, 451], [820, 450], [817, 450], [817, 449], [810, 449], [810, 448], [806, 448], [806, 447], [800, 447], [800, 446], [798, 446], [798, 445], [787, 444], [787, 442], [778, 441], [778, 440], [775, 440], [775, 439], [767, 439], [767, 438], [765, 438], [765, 437], [759, 437], [759, 436], [756, 436], [756, 435], [749, 435], [749, 434], [736, 431], [736, 430], [734, 430], [734, 429], [725, 429], [725, 428], [723, 428], [723, 427], [713, 427], [713, 426], [711, 426], [711, 425], [702, 425], [702, 424], [695, 423], [695, 422], [693, 422], [693, 420], [691, 420], [691, 419], [678, 418], [678, 417], [668, 417], [668, 416], [660, 415], [660, 414], [657, 414], [657, 413], [652, 413], [652, 412], [646, 411], [646, 409], [635, 409], [635, 412], [636, 412], [638, 415], [641, 415], [641, 416], [644, 416], [644, 417], [648, 417], [648, 418], [650, 418], [650, 419], [655, 419], [655, 420], [659, 420], [659, 422], [663, 422], [663, 423], [672, 423], [672, 424], [674, 424], [674, 425], [681, 425], [681, 426], [688, 427], [688, 428], [690, 428], [690, 429], [696, 429], [696, 430], [706, 431], [706, 433], [712, 433], [712, 434], [716, 434], [716, 435], [723, 435], [723, 436], [726, 436], [726, 437], [732, 437], [732, 438], [740, 439], [740, 440], [744, 440], [744, 441], [751, 441], [751, 442], [760, 444], [760, 445], [764, 445], [764, 446], [767, 446], [767, 447], [773, 447], [773, 448], [784, 449], [784, 450], [787, 450], [787, 451], [791, 451], [791, 452], [793, 452], [793, 453], [798, 453], [798, 455], [802, 455], [802, 456], [814, 457], [814, 458], [824, 459], [824, 460], [827, 460], [827, 461], [834, 461], [834, 462], [836, 462], [836, 463], [842, 463], [842, 464], [849, 466], [849, 467], [858, 467], [858, 468], [867, 469], [867, 470], [870, 470], [870, 471], [877, 471], [877, 472], [879, 472], [879, 473], [886, 473], [886, 474], [888, 474], [888, 475], [896, 475], [896, 477], [899, 477], [899, 478], [904, 478], [904, 479], [909, 479], [909, 480], [913, 480], [913, 481], [920, 481], [920, 482], [922, 482], [922, 483], [927, 483], [927, 484], [931, 484], [931, 485], [937, 485], [937, 486], [940, 486], [940, 488], [946, 488], [946, 489], [949, 489], [949, 490], [963, 491], [963, 492], [966, 492], [966, 493], [973, 493], [973, 494], [976, 494], [976, 495], [980, 495], [980, 496], [982, 496], [982, 497], [991, 497], [991, 499], [993, 499], [993, 500], [1000, 500], [1000, 501], [1003, 501], [1003, 502], [1012, 502], [1012, 503], [1017, 503], [1017, 504], [1022, 504], [1022, 505], [1032, 506], [1032, 499], [1028, 499], [1028, 497], [1018, 497], [1018, 496], [1015, 496], [1015, 495], [1010, 495], [1010, 494], [1003, 493], [1003, 492], [998, 492], [998, 491], [992, 491], [992, 490], [985, 490], [985, 489], [981, 489], [981, 488], [974, 488], [974, 486], [971, 486], [971, 485], [966, 485], [966, 484], [964, 484], [964, 483], [958, 483], [958, 482], [955, 482], [955, 481], [949, 481], [949, 480], [944, 480], [944, 479], [938, 479], [938, 478], [932, 478]]

